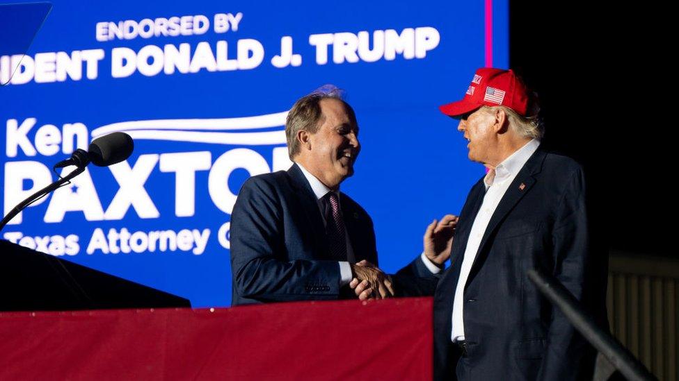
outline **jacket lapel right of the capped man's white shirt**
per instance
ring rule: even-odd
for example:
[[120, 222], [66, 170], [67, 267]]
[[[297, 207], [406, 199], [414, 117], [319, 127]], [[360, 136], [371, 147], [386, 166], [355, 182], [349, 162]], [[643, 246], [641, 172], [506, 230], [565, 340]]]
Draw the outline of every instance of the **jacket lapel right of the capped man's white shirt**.
[[488, 240], [493, 235], [493, 232], [495, 232], [506, 215], [511, 212], [521, 198], [523, 198], [535, 184], [535, 176], [540, 172], [543, 160], [545, 160], [545, 152], [538, 147], [535, 153], [533, 153], [516, 175], [516, 178], [514, 178], [511, 185], [509, 185], [509, 188], [507, 188], [504, 196], [502, 196], [500, 203], [497, 204], [497, 208], [488, 222], [486, 232], [484, 232], [484, 237], [481, 238], [479, 251], [477, 251], [476, 257], [474, 257], [474, 263], [472, 264], [467, 284], [469, 284], [470, 280], [472, 280], [476, 273], [479, 272], [481, 264], [486, 260], [488, 251], [484, 251], [484, 246], [488, 244]]

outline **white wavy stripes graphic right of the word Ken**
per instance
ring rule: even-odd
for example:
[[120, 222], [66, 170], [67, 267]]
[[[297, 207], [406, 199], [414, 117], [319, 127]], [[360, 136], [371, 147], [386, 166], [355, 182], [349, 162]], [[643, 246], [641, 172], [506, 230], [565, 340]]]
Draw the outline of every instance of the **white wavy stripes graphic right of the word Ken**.
[[[154, 119], [121, 121], [92, 130], [92, 138], [122, 131], [133, 139], [171, 140], [214, 144], [271, 145], [285, 144], [285, 130], [262, 132], [209, 132], [195, 130], [233, 131], [285, 126], [287, 111], [256, 117], [221, 119]], [[170, 132], [170, 130], [172, 132]]]

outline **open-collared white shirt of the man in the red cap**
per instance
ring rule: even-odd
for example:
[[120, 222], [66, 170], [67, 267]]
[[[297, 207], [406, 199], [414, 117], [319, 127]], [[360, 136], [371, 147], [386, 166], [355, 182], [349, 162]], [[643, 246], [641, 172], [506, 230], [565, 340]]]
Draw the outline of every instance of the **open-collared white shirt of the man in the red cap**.
[[469, 234], [467, 247], [465, 248], [465, 255], [462, 260], [462, 269], [460, 271], [460, 278], [455, 289], [455, 298], [453, 300], [453, 314], [452, 314], [452, 332], [450, 339], [452, 341], [462, 341], [465, 339], [465, 323], [463, 319], [464, 308], [464, 291], [467, 284], [474, 258], [477, 256], [481, 239], [484, 237], [490, 217], [495, 213], [497, 205], [502, 200], [507, 188], [511, 182], [516, 178], [517, 173], [526, 164], [528, 159], [538, 149], [540, 141], [532, 139], [530, 142], [522, 146], [518, 151], [512, 153], [509, 158], [501, 162], [495, 171], [490, 170], [484, 178], [486, 183], [486, 195], [484, 201], [481, 203], [481, 208], [472, 223], [472, 230]]

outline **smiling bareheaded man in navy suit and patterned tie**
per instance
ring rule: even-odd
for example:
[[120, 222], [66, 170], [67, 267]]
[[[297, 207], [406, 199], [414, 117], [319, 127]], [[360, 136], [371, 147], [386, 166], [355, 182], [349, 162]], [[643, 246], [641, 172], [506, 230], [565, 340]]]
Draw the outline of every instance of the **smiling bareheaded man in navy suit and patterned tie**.
[[353, 174], [358, 124], [339, 90], [299, 99], [285, 124], [287, 171], [249, 178], [231, 216], [232, 304], [394, 294], [378, 269], [372, 219], [340, 183]]

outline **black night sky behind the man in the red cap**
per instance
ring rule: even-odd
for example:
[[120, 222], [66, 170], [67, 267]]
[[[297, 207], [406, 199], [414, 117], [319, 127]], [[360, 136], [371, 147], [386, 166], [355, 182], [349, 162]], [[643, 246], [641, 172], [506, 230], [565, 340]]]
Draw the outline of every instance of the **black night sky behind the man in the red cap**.
[[630, 7], [511, 1], [510, 62], [540, 95], [545, 146], [584, 166], [595, 243], [678, 257], [666, 24]]

